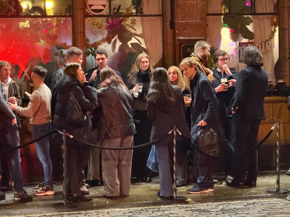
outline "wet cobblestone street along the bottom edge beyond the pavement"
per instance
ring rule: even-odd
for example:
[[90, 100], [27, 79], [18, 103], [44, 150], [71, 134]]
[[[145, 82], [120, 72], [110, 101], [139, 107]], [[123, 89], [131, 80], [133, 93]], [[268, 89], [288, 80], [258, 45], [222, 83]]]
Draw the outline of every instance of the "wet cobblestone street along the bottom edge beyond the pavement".
[[289, 201], [284, 199], [267, 200], [237, 200], [215, 203], [198, 203], [186, 205], [165, 205], [136, 208], [100, 209], [90, 211], [70, 211], [60, 213], [45, 213], [31, 215], [3, 215], [11, 216], [33, 216], [33, 217], [222, 217], [222, 216], [290, 216]]

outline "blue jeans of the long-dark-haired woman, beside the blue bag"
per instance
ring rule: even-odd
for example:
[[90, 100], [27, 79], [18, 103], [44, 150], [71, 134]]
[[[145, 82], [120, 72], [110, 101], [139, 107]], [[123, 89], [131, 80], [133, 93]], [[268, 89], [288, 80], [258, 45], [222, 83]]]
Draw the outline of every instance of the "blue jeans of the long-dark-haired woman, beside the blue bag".
[[169, 159], [168, 146], [170, 143], [159, 143], [156, 145], [157, 160], [159, 162], [160, 195], [170, 196], [172, 190], [171, 160]]

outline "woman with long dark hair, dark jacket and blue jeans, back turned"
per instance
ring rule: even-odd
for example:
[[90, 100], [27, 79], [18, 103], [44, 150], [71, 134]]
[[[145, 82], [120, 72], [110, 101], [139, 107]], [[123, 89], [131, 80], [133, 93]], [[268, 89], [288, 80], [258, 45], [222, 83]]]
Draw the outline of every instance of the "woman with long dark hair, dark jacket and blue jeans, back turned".
[[[156, 144], [157, 160], [159, 162], [160, 192], [157, 195], [164, 200], [173, 200], [172, 190], [172, 136], [168, 132], [173, 126], [179, 129], [185, 137], [190, 132], [185, 120], [185, 104], [181, 90], [173, 86], [167, 77], [165, 68], [156, 68], [153, 72], [147, 94], [147, 117], [153, 122], [151, 141], [161, 140]], [[177, 141], [182, 140], [177, 137]]]

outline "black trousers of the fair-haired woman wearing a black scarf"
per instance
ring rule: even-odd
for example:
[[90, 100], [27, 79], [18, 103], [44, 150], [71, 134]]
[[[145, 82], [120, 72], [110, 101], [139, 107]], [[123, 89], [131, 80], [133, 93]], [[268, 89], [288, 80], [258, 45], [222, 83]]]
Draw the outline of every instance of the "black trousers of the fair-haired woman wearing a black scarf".
[[[136, 134], [134, 135], [133, 146], [139, 146], [150, 142], [152, 122], [147, 118], [147, 111], [135, 111], [134, 119], [141, 121], [140, 124], [135, 124]], [[132, 157], [132, 176], [138, 179], [143, 177], [152, 177], [153, 172], [147, 167], [147, 159], [151, 151], [151, 146], [146, 146], [141, 149], [133, 150]]]

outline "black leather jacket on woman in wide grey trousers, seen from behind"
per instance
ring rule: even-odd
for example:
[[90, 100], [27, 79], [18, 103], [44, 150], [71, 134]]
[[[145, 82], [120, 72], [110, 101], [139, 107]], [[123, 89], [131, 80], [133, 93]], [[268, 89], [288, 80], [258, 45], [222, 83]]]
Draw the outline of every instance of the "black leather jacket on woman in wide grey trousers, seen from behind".
[[120, 138], [136, 133], [133, 121], [133, 99], [124, 85], [97, 90], [102, 108], [101, 138]]

